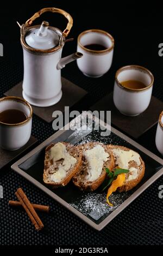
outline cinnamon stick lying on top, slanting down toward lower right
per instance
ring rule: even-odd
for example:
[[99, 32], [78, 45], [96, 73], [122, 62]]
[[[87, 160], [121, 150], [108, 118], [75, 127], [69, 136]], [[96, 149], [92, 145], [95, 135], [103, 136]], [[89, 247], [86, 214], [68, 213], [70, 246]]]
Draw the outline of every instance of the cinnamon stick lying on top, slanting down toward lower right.
[[15, 194], [21, 205], [23, 206], [24, 210], [27, 212], [27, 215], [35, 226], [35, 229], [38, 231], [41, 230], [44, 227], [43, 223], [41, 222], [41, 219], [34, 210], [32, 204], [30, 204], [30, 201], [28, 200], [26, 194], [21, 188], [18, 188]]

